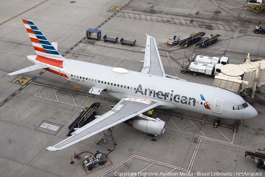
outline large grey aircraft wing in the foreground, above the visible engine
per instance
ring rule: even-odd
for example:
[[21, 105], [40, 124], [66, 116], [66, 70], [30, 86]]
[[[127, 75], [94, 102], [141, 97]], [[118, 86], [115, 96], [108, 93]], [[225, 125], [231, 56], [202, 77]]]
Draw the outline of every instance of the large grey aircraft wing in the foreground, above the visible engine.
[[159, 105], [158, 102], [146, 99], [123, 98], [109, 112], [77, 129], [71, 134], [72, 136], [54, 146], [42, 147], [45, 153], [47, 151], [62, 150]]

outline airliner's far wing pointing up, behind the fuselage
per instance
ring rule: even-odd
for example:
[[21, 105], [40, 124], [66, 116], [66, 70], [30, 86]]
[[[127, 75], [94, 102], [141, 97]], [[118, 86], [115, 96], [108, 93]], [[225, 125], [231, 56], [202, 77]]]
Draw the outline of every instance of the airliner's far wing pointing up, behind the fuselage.
[[166, 77], [155, 38], [148, 34], [146, 36], [145, 60], [141, 73]]

